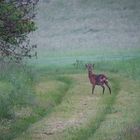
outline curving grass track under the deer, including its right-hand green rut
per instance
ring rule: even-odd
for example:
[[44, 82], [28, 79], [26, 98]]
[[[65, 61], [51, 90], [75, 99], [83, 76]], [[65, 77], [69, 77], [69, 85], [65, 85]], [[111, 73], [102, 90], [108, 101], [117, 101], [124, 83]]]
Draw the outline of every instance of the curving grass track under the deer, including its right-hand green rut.
[[[114, 77], [112, 81], [113, 94], [110, 96], [109, 94], [105, 94], [102, 96], [97, 92], [101, 92], [100, 88], [95, 90], [95, 95], [90, 94], [90, 84], [88, 83], [88, 79], [86, 75], [83, 74], [71, 74], [67, 75], [67, 78], [56, 78], [60, 81], [65, 81], [66, 79], [73, 79], [75, 82], [75, 86], [72, 86], [67, 91], [67, 94], [59, 104], [53, 109], [51, 114], [47, 117], [44, 117], [43, 120], [37, 122], [33, 125], [33, 127], [29, 128], [27, 131], [28, 135], [24, 135], [25, 138], [22, 139], [66, 139], [66, 140], [82, 140], [88, 139], [96, 130], [100, 127], [102, 122], [105, 120], [106, 115], [109, 114], [112, 110], [112, 105], [115, 103], [116, 96], [120, 90], [118, 78]], [[65, 79], [65, 80], [64, 80]], [[86, 84], [88, 85], [86, 87]], [[85, 86], [85, 87], [84, 87]], [[83, 88], [82, 88], [83, 87]], [[77, 89], [80, 89], [78, 91]], [[60, 90], [60, 89], [59, 89]], [[83, 91], [83, 92], [82, 92]], [[88, 92], [88, 93], [87, 93]], [[107, 92], [107, 91], [106, 91]], [[88, 100], [87, 100], [88, 98]], [[86, 103], [86, 106], [85, 106]], [[84, 104], [84, 105], [83, 105]], [[82, 108], [81, 108], [82, 107]], [[92, 111], [96, 110], [95, 112]], [[79, 118], [78, 112], [85, 114], [85, 116]], [[92, 112], [92, 113], [91, 113]], [[87, 114], [86, 114], [87, 113]], [[65, 122], [69, 122], [73, 120], [75, 116], [81, 119], [81, 122], [74, 122], [75, 124], [65, 126]], [[83, 119], [86, 118], [86, 119]], [[56, 130], [55, 133], [51, 132], [57, 123], [61, 121], [60, 125], [64, 127]], [[56, 124], [51, 124], [52, 128], [47, 128], [48, 124], [55, 122]], [[50, 132], [47, 132], [47, 131]], [[61, 133], [63, 132], [63, 133]], [[51, 135], [47, 135], [47, 133], [52, 133]], [[18, 138], [18, 139], [21, 139]]]

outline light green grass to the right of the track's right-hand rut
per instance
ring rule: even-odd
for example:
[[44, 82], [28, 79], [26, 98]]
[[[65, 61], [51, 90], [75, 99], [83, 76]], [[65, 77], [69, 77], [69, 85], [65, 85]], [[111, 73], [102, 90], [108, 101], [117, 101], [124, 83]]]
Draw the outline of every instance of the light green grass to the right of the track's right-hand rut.
[[111, 113], [88, 140], [138, 140], [139, 98], [139, 82], [120, 78], [120, 91]]

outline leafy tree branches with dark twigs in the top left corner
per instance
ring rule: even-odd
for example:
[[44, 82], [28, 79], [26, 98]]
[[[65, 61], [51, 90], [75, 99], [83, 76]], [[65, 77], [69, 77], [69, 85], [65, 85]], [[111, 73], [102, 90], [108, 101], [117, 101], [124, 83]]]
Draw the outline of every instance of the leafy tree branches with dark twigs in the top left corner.
[[36, 1], [2, 0], [0, 1], [0, 56], [21, 60], [31, 57], [31, 50], [36, 45], [30, 45], [28, 34], [36, 30]]

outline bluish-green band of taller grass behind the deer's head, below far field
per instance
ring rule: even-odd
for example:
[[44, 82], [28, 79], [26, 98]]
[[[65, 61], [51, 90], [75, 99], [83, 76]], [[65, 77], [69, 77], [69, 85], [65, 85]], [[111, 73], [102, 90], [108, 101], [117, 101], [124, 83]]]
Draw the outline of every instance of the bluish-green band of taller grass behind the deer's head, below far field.
[[48, 65], [47, 67], [38, 68], [40, 75], [57, 75], [57, 74], [74, 74], [74, 73], [85, 73], [85, 64], [95, 64], [94, 72], [113, 72], [123, 76], [127, 76], [132, 79], [140, 79], [140, 61], [139, 58], [130, 60], [116, 60], [116, 61], [82, 61], [75, 60], [71, 64], [63, 65]]

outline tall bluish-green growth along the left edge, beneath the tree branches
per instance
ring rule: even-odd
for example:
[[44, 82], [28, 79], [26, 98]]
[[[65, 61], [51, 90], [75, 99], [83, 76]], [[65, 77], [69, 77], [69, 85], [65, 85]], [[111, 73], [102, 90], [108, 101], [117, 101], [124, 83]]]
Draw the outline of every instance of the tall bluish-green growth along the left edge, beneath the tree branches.
[[25, 65], [1, 62], [0, 67], [0, 139], [7, 140], [29, 125], [18, 123], [25, 117], [17, 116], [17, 111], [34, 106], [35, 81], [31, 69]]

